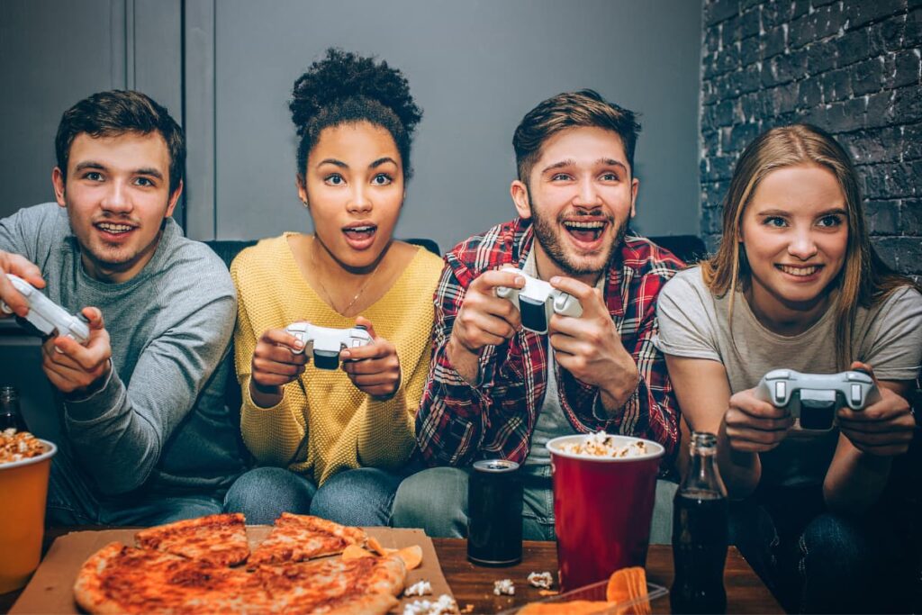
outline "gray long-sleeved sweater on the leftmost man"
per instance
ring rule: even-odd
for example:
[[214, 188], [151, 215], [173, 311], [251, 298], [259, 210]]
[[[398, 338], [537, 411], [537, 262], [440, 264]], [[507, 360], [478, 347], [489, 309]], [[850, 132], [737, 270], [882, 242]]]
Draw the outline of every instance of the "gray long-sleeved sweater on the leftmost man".
[[[65, 209], [55, 203], [0, 220], [0, 250], [41, 269], [44, 290], [71, 313], [100, 308], [112, 374], [87, 399], [65, 403], [65, 451], [102, 497], [207, 494], [242, 470], [238, 430], [224, 404], [236, 294], [227, 267], [168, 219], [156, 253], [121, 284], [90, 278]], [[68, 451], [69, 449], [69, 451]], [[117, 499], [117, 498], [116, 498]]]

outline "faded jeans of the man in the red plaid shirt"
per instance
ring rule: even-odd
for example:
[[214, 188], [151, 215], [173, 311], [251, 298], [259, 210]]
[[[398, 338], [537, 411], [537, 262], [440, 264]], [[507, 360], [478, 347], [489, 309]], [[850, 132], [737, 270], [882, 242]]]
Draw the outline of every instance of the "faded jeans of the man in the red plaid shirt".
[[[550, 467], [523, 467], [522, 538], [554, 540], [554, 498]], [[469, 468], [432, 467], [404, 480], [397, 489], [391, 525], [421, 527], [431, 537], [467, 537]], [[674, 483], [656, 481], [651, 543], [669, 541]]]

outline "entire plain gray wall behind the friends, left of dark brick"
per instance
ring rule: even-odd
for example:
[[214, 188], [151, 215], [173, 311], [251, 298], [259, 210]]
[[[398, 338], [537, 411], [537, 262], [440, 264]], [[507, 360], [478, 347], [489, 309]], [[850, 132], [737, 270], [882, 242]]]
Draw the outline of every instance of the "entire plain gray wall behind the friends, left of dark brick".
[[3, 0], [0, 29], [14, 85], [0, 101], [14, 136], [0, 143], [0, 215], [51, 195], [61, 112], [128, 86], [183, 118], [191, 236], [310, 230], [286, 104], [295, 77], [336, 45], [401, 68], [425, 111], [398, 235], [447, 249], [512, 218], [515, 125], [586, 87], [643, 114], [635, 226], [698, 230], [697, 0]]

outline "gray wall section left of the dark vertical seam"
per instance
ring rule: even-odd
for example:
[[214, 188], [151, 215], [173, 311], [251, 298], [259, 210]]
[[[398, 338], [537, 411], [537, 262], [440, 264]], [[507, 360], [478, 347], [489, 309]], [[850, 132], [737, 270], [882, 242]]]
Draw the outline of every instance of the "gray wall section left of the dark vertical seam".
[[57, 124], [89, 94], [140, 89], [183, 121], [181, 24], [181, 0], [0, 0], [0, 217], [53, 200]]

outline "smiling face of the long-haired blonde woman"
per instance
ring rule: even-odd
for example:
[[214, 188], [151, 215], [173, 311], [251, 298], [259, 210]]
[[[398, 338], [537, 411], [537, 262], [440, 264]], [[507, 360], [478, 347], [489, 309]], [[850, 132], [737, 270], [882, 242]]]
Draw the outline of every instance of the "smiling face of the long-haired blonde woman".
[[825, 310], [848, 246], [845, 195], [833, 172], [799, 164], [765, 175], [743, 213], [739, 242], [756, 313], [797, 320]]

